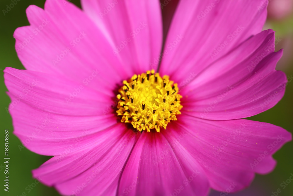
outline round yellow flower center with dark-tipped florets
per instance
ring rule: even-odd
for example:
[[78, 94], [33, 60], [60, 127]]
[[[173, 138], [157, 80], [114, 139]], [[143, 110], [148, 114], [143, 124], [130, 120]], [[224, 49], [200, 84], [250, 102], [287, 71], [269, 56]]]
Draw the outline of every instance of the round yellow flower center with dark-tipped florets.
[[139, 131], [160, 128], [166, 129], [168, 123], [177, 120], [181, 114], [178, 85], [169, 80], [169, 76], [147, 71], [123, 81], [119, 89], [117, 115], [122, 116], [122, 123], [131, 123]]

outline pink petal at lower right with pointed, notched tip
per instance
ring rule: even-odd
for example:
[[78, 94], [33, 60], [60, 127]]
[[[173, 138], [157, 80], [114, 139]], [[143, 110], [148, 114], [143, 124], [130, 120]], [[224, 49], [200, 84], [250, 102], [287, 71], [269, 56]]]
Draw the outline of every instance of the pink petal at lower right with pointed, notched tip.
[[[174, 153], [192, 156], [218, 191], [247, 187], [254, 173], [271, 172], [272, 154], [292, 140], [281, 127], [251, 120], [203, 120], [182, 114], [164, 135], [173, 141]], [[176, 140], [174, 140], [176, 138]]]

